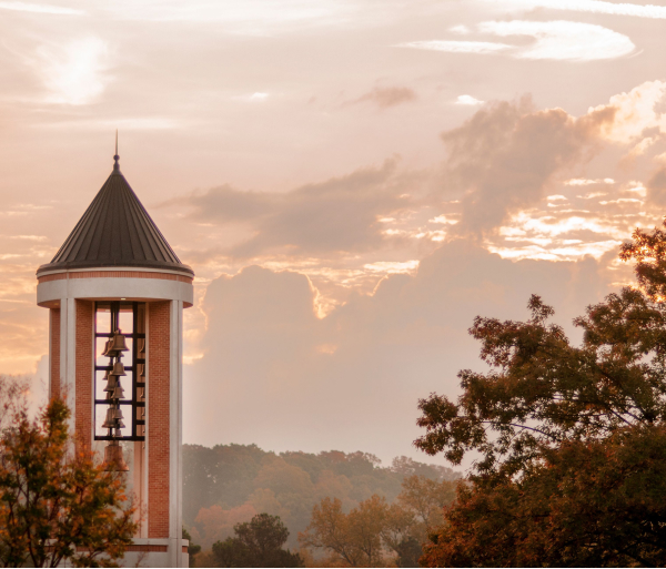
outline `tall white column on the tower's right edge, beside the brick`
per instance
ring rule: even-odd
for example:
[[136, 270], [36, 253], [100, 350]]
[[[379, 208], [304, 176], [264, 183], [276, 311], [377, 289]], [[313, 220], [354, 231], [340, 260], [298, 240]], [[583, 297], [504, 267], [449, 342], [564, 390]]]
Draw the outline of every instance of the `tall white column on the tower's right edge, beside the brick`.
[[169, 400], [169, 559], [182, 567], [182, 325], [183, 303], [171, 302]]

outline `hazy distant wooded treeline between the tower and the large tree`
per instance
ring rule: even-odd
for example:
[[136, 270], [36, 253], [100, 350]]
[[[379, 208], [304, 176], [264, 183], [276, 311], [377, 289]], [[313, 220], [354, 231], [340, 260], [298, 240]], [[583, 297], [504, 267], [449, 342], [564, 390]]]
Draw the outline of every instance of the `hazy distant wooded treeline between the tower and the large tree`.
[[265, 451], [256, 445], [183, 447], [183, 521], [195, 543], [210, 550], [234, 534], [234, 525], [258, 514], [279, 516], [289, 529], [286, 546], [299, 549], [299, 532], [311, 522], [323, 499], [339, 500], [351, 512], [373, 496], [393, 504], [405, 478], [455, 480], [451, 468], [407, 457], [389, 467], [367, 453]]

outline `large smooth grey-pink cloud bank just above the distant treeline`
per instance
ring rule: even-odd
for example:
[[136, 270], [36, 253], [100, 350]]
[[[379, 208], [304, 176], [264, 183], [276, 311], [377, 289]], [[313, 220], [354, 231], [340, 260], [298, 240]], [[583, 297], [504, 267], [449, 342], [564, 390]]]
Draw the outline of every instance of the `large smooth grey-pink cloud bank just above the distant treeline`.
[[322, 319], [302, 274], [248, 267], [222, 276], [202, 305], [203, 357], [185, 369], [184, 439], [417, 458], [417, 399], [456, 396], [458, 369], [481, 369], [466, 332], [475, 315], [525, 317], [536, 293], [571, 329], [606, 278], [593, 260], [512, 262], [458, 240], [413, 276], [384, 278]]

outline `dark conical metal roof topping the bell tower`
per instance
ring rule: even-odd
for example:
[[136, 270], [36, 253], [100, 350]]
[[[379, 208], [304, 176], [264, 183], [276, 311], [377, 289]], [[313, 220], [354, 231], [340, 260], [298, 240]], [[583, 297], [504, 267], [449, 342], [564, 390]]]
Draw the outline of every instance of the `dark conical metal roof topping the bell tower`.
[[120, 173], [113, 172], [53, 260], [37, 274], [53, 270], [147, 267], [194, 272], [180, 262], [139, 197]]

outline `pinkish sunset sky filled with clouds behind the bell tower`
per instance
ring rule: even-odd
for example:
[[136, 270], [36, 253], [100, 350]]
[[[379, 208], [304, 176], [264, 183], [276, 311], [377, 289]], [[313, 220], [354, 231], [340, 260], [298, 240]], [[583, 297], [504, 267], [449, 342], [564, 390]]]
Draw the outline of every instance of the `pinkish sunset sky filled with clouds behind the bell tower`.
[[121, 170], [182, 262], [185, 443], [413, 446], [476, 315], [572, 318], [666, 206], [666, 2], [0, 1], [0, 373]]

